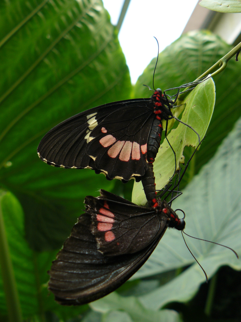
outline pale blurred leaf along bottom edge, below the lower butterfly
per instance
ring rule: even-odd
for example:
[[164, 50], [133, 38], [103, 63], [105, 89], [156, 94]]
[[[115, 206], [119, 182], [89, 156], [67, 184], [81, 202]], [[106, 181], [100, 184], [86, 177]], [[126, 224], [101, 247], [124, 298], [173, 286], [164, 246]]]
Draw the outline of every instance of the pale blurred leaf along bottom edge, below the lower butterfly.
[[[150, 310], [142, 306], [135, 297], [121, 297], [113, 292], [104, 298], [90, 304], [91, 308], [97, 312], [109, 313], [116, 310], [124, 311], [133, 322], [178, 322], [181, 321], [178, 313], [173, 310]], [[108, 320], [103, 320], [108, 321]], [[114, 321], [114, 319], [112, 320]]]

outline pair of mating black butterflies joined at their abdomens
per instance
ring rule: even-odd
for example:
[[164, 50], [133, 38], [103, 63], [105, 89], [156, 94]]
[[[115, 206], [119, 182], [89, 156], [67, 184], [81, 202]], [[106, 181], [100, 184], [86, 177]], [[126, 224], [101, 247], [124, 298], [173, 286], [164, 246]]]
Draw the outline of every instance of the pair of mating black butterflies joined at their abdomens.
[[153, 173], [162, 121], [174, 118], [173, 104], [157, 89], [151, 99], [79, 113], [41, 140], [38, 155], [47, 164], [94, 169], [108, 180], [141, 180], [149, 204], [141, 207], [104, 190], [100, 197], [85, 198], [85, 213], [49, 272], [49, 289], [59, 303], [85, 304], [117, 289], [144, 264], [167, 227], [185, 227], [165, 200], [156, 199]]

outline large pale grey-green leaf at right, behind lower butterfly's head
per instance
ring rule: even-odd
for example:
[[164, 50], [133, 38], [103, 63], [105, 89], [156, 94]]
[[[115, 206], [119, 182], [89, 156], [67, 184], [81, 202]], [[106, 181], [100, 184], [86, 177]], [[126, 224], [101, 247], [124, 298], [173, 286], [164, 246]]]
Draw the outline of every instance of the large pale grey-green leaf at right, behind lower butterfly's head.
[[[216, 155], [173, 202], [173, 209], [186, 213], [185, 232], [194, 237], [221, 243], [241, 255], [241, 118]], [[222, 246], [185, 236], [188, 246], [209, 278], [219, 267], [241, 270], [235, 254]], [[139, 299], [147, 308], [158, 309], [172, 301], [185, 302], [197, 292], [205, 276], [187, 250], [179, 231], [165, 233], [147, 263], [134, 278], [155, 275], [191, 265], [177, 278]]]

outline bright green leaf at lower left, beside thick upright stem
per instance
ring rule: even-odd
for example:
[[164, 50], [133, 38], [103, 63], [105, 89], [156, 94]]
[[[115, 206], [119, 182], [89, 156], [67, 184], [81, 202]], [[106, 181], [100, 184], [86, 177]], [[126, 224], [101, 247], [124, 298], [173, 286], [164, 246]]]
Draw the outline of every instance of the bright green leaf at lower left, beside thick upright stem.
[[[37, 253], [29, 247], [25, 239], [22, 207], [13, 194], [2, 193], [0, 204], [23, 317], [42, 315], [47, 310], [56, 310], [60, 316], [73, 317], [85, 311], [83, 306], [64, 310], [58, 308], [53, 295], [48, 296], [47, 270], [56, 251]], [[6, 315], [3, 280], [0, 278], [0, 319]]]

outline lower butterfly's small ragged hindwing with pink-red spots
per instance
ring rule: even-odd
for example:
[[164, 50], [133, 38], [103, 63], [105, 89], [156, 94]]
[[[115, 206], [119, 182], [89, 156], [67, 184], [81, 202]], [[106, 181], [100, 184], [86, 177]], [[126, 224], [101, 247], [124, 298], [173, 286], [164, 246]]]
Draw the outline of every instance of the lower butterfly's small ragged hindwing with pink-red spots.
[[[86, 212], [91, 215], [91, 232], [95, 236], [97, 249], [105, 256], [136, 253], [154, 242], [166, 223], [163, 213], [136, 204], [127, 204], [126, 200], [115, 196], [107, 199], [87, 196]], [[111, 194], [111, 193], [108, 193]], [[118, 199], [117, 199], [118, 198]]]

